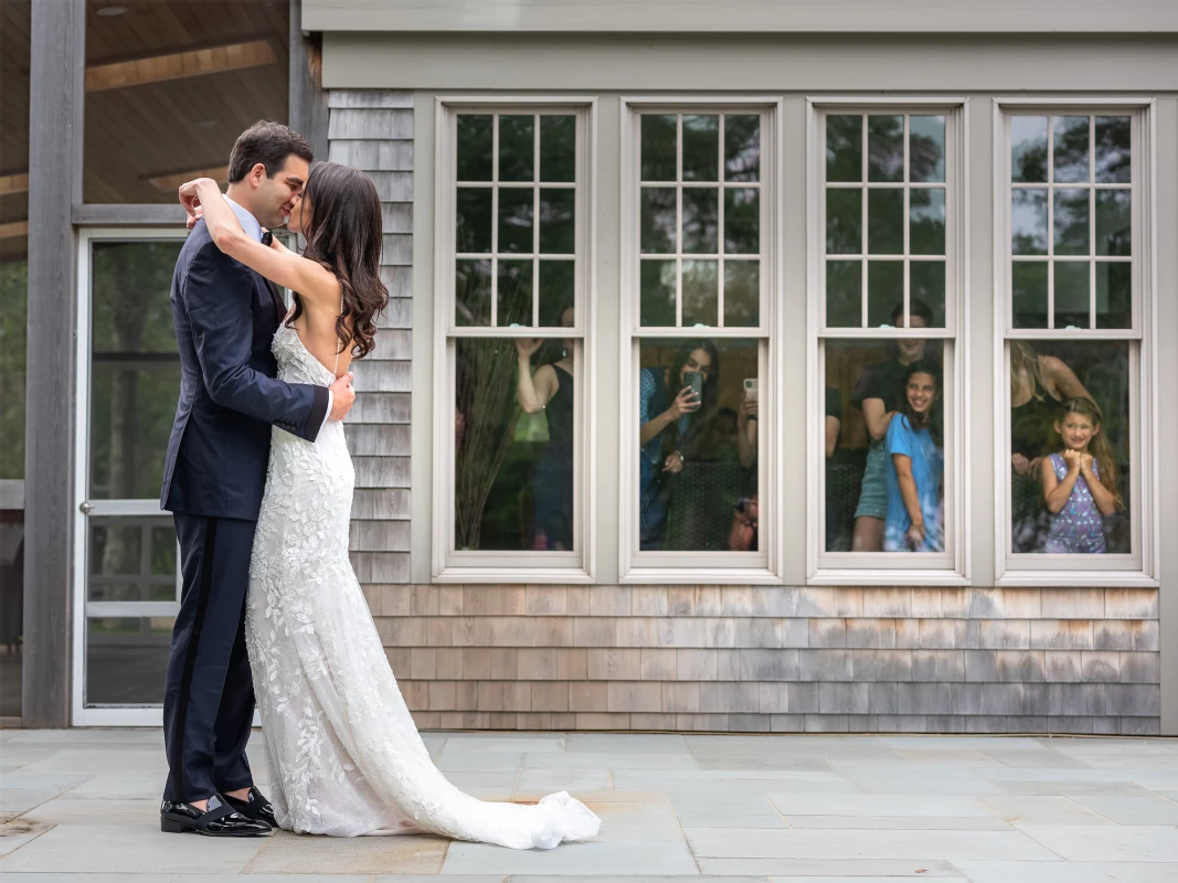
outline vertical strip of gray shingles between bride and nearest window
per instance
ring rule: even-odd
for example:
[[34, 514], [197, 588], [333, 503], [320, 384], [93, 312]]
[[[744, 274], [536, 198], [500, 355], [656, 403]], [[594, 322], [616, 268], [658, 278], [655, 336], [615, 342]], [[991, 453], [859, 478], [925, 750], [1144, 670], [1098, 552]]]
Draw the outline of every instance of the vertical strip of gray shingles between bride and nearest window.
[[409, 580], [413, 97], [333, 89], [327, 107], [327, 158], [372, 179], [384, 220], [380, 278], [389, 286], [389, 306], [376, 348], [353, 363], [356, 406], [344, 424], [356, 466], [352, 566], [375, 600], [380, 586]]

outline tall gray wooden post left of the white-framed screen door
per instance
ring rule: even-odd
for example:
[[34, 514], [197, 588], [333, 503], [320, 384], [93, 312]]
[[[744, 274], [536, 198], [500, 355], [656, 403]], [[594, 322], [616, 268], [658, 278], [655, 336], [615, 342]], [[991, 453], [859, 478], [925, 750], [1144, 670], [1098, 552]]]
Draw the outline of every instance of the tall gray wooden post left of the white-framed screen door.
[[29, 59], [21, 716], [25, 726], [68, 726], [86, 0], [32, 0]]

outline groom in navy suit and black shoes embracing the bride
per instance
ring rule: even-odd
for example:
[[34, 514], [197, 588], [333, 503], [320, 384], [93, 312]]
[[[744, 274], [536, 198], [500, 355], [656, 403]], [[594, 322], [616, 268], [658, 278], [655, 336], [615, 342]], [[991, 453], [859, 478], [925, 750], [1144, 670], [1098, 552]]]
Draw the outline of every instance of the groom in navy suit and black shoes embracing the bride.
[[[311, 160], [302, 135], [280, 124], [241, 133], [226, 195], [246, 233], [265, 241], [263, 227], [286, 223]], [[164, 695], [160, 829], [173, 834], [249, 837], [277, 826], [245, 758], [253, 719], [245, 595], [271, 426], [313, 442], [356, 399], [351, 374], [330, 389], [274, 379], [270, 344], [285, 312], [273, 283], [223, 254], [198, 220], [172, 275], [180, 401], [160, 492], [184, 580]]]

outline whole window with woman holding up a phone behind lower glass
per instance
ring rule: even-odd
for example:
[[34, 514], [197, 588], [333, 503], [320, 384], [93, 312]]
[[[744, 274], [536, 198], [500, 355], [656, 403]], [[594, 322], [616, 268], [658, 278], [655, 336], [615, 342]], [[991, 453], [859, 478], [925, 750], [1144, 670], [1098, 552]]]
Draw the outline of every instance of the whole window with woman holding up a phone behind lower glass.
[[621, 576], [766, 578], [776, 105], [623, 108]]

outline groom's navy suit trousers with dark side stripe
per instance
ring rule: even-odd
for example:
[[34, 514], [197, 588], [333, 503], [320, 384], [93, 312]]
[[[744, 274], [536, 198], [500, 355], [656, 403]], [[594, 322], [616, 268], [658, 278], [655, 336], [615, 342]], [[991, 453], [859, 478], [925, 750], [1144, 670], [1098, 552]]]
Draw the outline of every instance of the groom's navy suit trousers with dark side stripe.
[[257, 522], [173, 513], [184, 586], [164, 693], [165, 801], [247, 788], [253, 682], [245, 595]]

